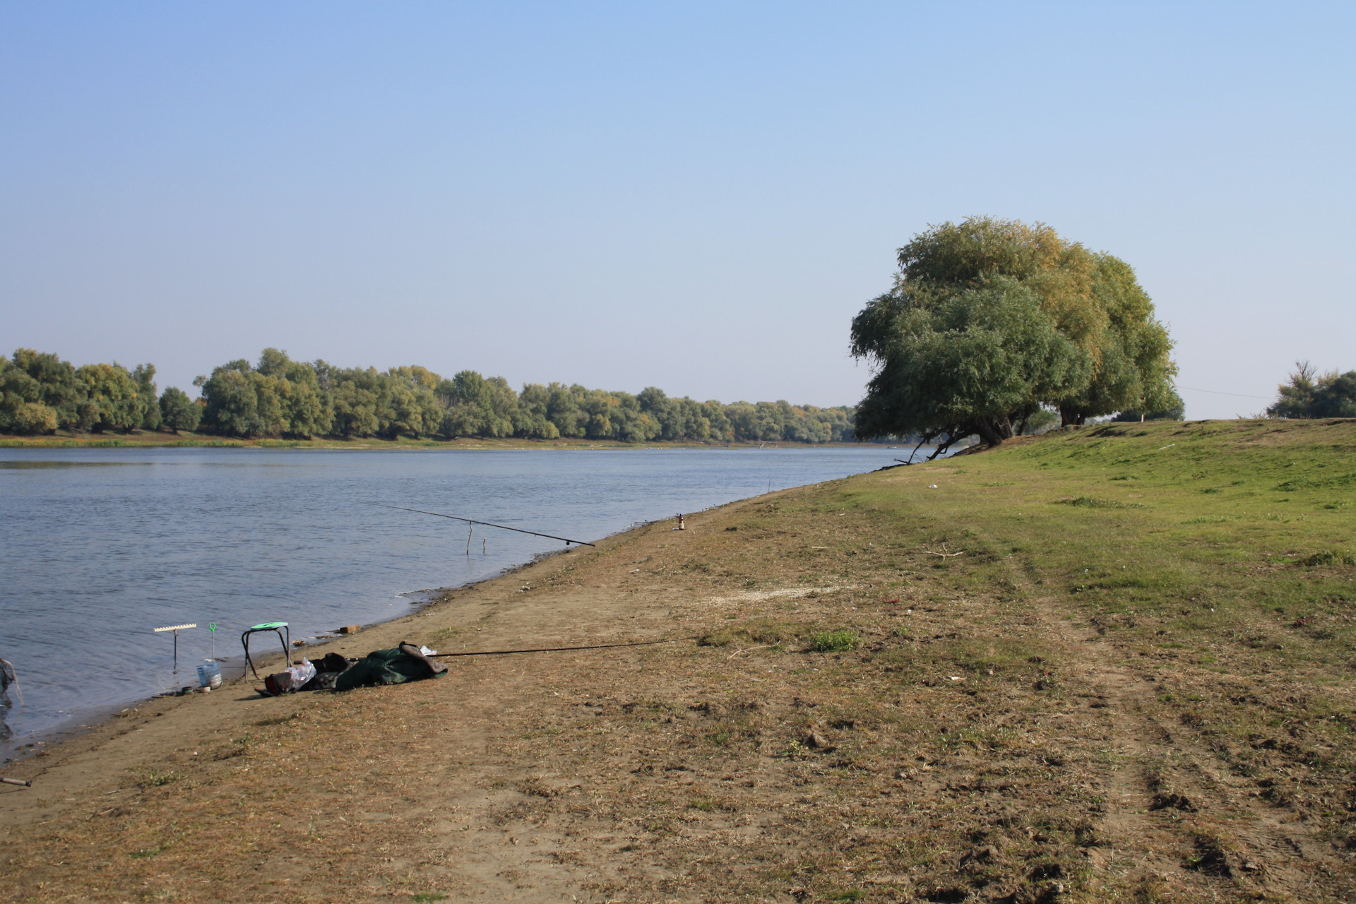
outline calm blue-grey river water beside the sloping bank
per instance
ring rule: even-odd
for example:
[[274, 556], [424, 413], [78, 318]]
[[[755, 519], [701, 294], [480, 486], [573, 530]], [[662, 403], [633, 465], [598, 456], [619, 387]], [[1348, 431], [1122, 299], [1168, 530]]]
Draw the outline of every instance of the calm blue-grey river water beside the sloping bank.
[[[401, 615], [418, 591], [563, 549], [374, 503], [593, 541], [892, 464], [858, 449], [0, 449], [0, 657], [19, 679], [0, 756], [35, 733], [197, 684], [240, 632], [293, 638]], [[410, 594], [415, 594], [414, 598]], [[197, 622], [178, 640], [153, 628]], [[209, 632], [209, 622], [218, 630]], [[267, 638], [259, 642], [268, 649]], [[273, 640], [277, 648], [277, 638]]]

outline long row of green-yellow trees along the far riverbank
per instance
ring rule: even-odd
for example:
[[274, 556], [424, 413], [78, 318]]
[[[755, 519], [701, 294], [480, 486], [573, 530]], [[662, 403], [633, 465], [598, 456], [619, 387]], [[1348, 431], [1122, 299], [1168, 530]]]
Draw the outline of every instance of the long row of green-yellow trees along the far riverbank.
[[155, 367], [75, 367], [20, 348], [0, 359], [0, 432], [202, 430], [225, 436], [397, 436], [456, 439], [852, 440], [854, 409], [785, 401], [670, 398], [654, 386], [631, 394], [578, 384], [527, 384], [462, 370], [445, 378], [419, 366], [335, 367], [266, 348], [255, 365], [232, 361], [156, 396]]

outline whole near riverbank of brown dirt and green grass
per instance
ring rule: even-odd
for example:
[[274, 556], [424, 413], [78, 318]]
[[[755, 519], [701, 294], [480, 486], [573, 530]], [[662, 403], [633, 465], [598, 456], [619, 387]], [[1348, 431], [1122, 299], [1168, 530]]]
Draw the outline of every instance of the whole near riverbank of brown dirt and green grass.
[[1356, 422], [1117, 424], [651, 525], [343, 649], [700, 641], [148, 705], [11, 770], [0, 888], [1348, 900], [1353, 497]]

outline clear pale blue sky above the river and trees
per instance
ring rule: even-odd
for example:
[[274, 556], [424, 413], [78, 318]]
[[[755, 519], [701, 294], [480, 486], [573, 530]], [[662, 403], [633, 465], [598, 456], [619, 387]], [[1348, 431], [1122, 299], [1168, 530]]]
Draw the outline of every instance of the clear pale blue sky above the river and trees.
[[1188, 416], [1248, 415], [1356, 369], [1353, 47], [1351, 3], [8, 0], [0, 346], [856, 403], [895, 248], [991, 214], [1130, 262]]

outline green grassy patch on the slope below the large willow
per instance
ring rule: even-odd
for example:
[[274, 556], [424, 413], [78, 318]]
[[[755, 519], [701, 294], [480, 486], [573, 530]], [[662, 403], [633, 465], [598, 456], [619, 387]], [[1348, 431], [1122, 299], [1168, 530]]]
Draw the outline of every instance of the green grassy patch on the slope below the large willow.
[[1349, 420], [1113, 424], [873, 474], [843, 503], [965, 550], [930, 562], [961, 588], [1010, 580], [1092, 618], [1142, 615], [1121, 640], [1169, 642], [1166, 626], [1170, 642], [1212, 646], [1276, 607], [1311, 610], [1332, 623], [1291, 636], [1288, 659], [1334, 664], [1356, 642], [1353, 453]]

